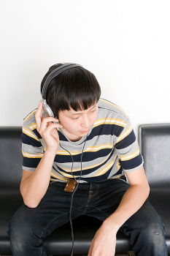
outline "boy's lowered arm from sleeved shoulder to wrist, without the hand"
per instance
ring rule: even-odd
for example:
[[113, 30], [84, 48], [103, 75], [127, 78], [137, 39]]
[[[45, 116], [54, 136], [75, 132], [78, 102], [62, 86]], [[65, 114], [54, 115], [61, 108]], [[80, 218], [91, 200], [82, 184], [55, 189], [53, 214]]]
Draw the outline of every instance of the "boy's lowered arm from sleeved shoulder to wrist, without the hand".
[[150, 186], [143, 167], [144, 161], [129, 117], [126, 118], [125, 127], [117, 137], [115, 151], [130, 187], [123, 195], [116, 211], [104, 220], [104, 225], [110, 225], [118, 230], [128, 218], [139, 210], [150, 193]]

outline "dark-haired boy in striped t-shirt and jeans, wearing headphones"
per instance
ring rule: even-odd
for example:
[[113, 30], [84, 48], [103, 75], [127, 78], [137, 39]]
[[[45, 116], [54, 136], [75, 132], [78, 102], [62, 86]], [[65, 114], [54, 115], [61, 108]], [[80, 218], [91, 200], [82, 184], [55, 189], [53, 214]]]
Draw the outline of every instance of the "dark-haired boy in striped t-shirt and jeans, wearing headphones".
[[77, 64], [50, 67], [41, 93], [52, 115], [39, 102], [23, 121], [23, 205], [9, 222], [12, 255], [47, 255], [43, 241], [69, 222], [72, 195], [72, 219], [103, 221], [88, 256], [115, 255], [119, 229], [131, 236], [135, 255], [168, 255], [126, 113], [101, 99], [96, 77]]

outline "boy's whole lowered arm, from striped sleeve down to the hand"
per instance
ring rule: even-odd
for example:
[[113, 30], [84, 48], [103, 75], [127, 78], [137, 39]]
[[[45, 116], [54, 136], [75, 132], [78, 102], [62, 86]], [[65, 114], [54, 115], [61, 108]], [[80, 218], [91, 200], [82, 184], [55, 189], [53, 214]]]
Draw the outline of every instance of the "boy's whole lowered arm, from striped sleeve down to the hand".
[[130, 187], [123, 195], [116, 211], [107, 217], [97, 230], [88, 256], [92, 256], [93, 252], [96, 252], [96, 255], [115, 255], [117, 230], [139, 210], [150, 193], [139, 144], [129, 117], [126, 118], [125, 126], [120, 130], [114, 146]]

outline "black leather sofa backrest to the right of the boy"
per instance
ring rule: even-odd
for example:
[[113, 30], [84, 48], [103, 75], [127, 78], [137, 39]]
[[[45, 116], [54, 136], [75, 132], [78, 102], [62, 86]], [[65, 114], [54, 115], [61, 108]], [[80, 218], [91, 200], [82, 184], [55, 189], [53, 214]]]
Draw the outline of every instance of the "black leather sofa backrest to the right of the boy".
[[150, 187], [170, 187], [170, 124], [139, 126], [139, 146]]

